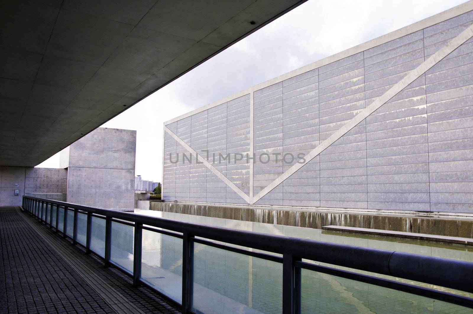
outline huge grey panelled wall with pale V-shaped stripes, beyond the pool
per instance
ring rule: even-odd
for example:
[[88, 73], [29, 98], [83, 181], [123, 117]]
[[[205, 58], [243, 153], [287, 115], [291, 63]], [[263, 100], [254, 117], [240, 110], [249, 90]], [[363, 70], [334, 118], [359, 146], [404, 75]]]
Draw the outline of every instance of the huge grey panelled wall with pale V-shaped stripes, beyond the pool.
[[[473, 11], [452, 9], [166, 122], [163, 199], [473, 212], [473, 39], [340, 131], [472, 23]], [[334, 134], [275, 185], [297, 160], [272, 154], [307, 154]], [[247, 197], [195, 159], [171, 163], [185, 144]], [[212, 159], [247, 152], [272, 156], [253, 165]]]

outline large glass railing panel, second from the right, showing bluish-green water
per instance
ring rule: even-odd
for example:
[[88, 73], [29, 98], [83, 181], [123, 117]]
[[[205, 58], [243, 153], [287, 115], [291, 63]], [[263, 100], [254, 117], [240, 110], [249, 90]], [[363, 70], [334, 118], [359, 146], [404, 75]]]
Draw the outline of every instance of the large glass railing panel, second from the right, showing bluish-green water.
[[282, 313], [282, 263], [194, 244], [192, 311]]

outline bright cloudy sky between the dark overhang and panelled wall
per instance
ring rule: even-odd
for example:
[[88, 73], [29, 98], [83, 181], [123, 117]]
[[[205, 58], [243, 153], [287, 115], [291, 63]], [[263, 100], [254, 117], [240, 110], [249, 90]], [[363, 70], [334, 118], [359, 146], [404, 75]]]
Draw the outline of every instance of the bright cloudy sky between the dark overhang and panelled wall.
[[463, 2], [309, 0], [102, 126], [137, 130], [135, 173], [161, 181], [163, 122]]

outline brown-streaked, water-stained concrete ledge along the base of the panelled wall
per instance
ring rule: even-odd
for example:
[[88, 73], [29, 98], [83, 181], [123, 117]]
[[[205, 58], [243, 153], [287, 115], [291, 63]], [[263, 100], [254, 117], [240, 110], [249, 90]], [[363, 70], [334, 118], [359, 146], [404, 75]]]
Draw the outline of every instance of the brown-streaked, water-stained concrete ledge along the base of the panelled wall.
[[433, 212], [387, 212], [366, 209], [283, 208], [183, 201], [150, 201], [149, 205], [151, 210], [283, 226], [322, 229], [324, 226], [337, 225], [473, 238], [471, 215], [439, 215], [439, 213]]

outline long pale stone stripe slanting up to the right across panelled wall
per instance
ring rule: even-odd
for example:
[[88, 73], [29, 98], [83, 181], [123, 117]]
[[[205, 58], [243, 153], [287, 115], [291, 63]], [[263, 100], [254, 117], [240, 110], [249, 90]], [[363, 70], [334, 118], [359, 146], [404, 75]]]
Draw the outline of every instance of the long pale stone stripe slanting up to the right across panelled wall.
[[340, 128], [338, 131], [333, 133], [329, 138], [324, 140], [316, 148], [314, 148], [312, 151], [310, 151], [306, 155], [306, 157], [305, 157], [306, 161], [304, 163], [302, 163], [302, 164], [296, 163], [295, 165], [290, 167], [286, 172], [281, 174], [272, 183], [270, 183], [268, 186], [266, 186], [263, 190], [261, 190], [258, 194], [256, 194], [252, 198], [252, 201], [251, 201], [250, 204], [254, 204], [256, 201], [261, 199], [264, 195], [266, 195], [268, 192], [270, 192], [272, 189], [274, 189], [276, 186], [278, 186], [284, 180], [289, 178], [290, 175], [294, 174], [301, 167], [303, 167], [309, 161], [314, 159], [318, 154], [320, 154], [322, 151], [324, 151], [324, 149], [328, 148], [336, 140], [340, 139], [345, 133], [347, 133], [352, 128], [354, 128], [359, 122], [362, 122], [366, 117], [368, 117], [368, 115], [375, 112], [379, 107], [381, 107], [386, 102], [388, 102], [391, 98], [396, 96], [405, 87], [407, 87], [414, 80], [419, 78], [427, 70], [429, 70], [431, 67], [436, 65], [440, 60], [445, 58], [449, 53], [453, 52], [456, 48], [458, 48], [461, 44], [466, 42], [472, 36], [473, 36], [473, 24], [470, 25], [468, 28], [466, 28], [462, 33], [460, 33], [460, 35], [453, 38], [445, 46], [440, 48], [438, 50], [438, 52], [436, 52], [432, 56], [430, 56], [429, 59], [427, 59], [426, 61], [421, 63], [417, 68], [415, 68], [414, 70], [409, 72], [409, 74], [407, 74], [403, 79], [401, 79], [399, 82], [394, 84], [394, 86], [391, 87], [387, 92], [385, 92], [383, 95], [379, 96], [371, 105], [369, 105], [364, 110], [362, 110], [360, 113], [358, 113], [349, 122], [345, 123], [342, 126], [342, 128]]

